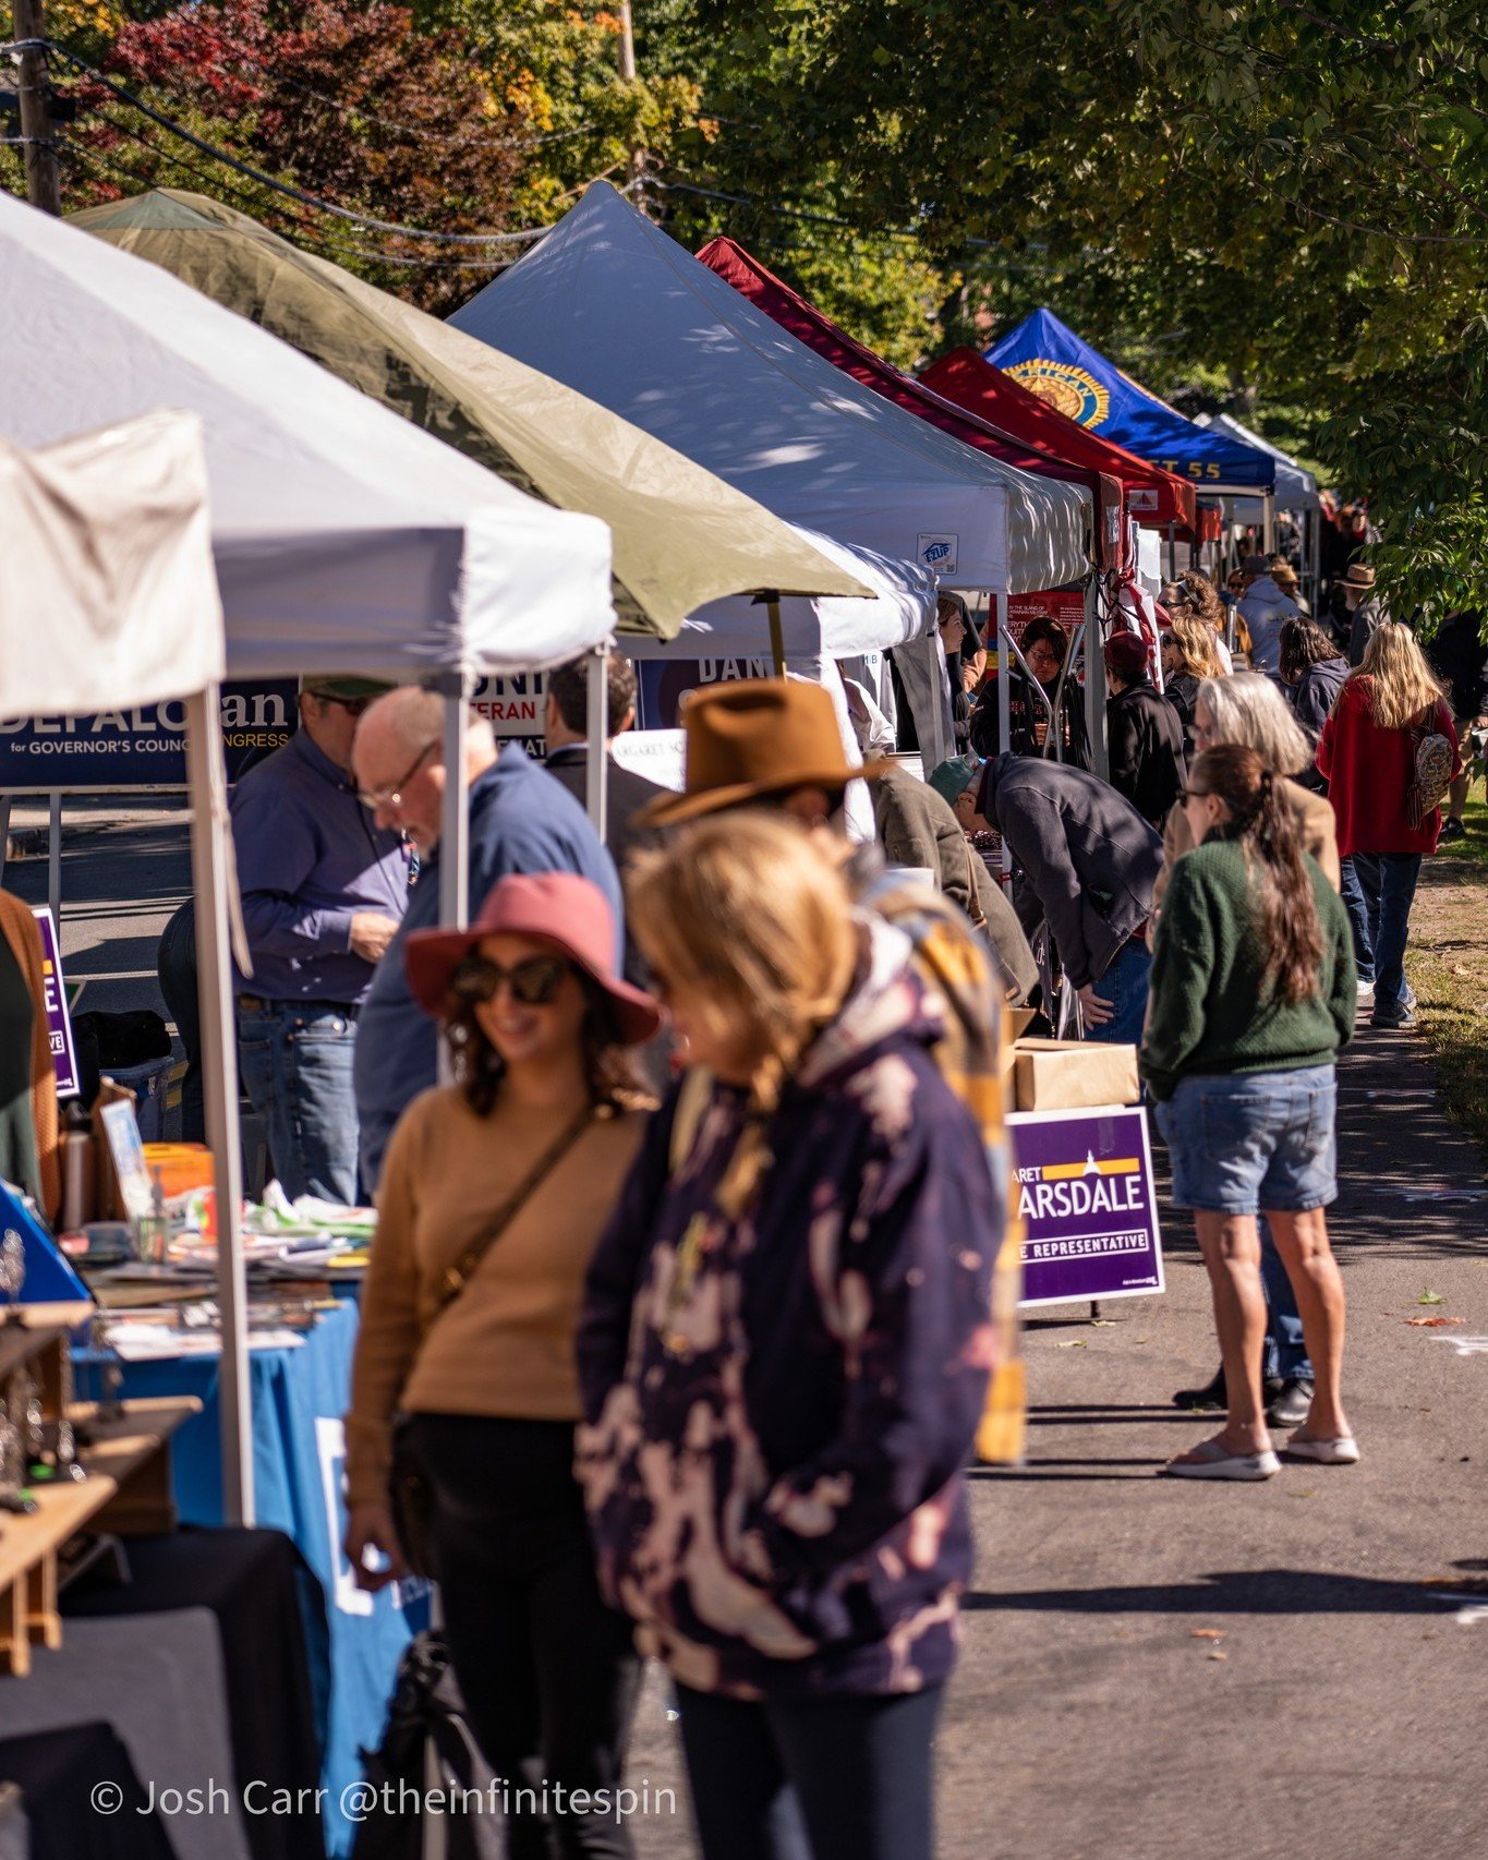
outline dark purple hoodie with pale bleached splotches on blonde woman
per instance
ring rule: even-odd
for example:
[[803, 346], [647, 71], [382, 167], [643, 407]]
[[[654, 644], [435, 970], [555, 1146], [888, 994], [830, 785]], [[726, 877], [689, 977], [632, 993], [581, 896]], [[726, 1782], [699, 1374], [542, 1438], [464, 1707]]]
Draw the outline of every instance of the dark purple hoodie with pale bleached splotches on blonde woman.
[[744, 1094], [712, 1086], [673, 1172], [653, 1120], [590, 1269], [578, 1469], [608, 1598], [684, 1685], [908, 1693], [956, 1657], [963, 1468], [1004, 1205], [926, 1047], [908, 939], [766, 1125], [751, 1203], [716, 1200]]

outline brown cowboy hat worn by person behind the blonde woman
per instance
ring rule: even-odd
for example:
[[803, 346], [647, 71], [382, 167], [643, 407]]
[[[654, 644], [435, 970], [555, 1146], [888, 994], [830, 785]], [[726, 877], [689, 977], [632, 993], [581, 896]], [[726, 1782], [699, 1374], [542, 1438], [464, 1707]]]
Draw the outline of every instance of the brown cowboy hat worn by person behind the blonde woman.
[[694, 692], [683, 705], [683, 729], [686, 789], [642, 807], [638, 824], [673, 826], [792, 789], [844, 789], [889, 766], [880, 755], [854, 768], [831, 698], [798, 679], [740, 679]]

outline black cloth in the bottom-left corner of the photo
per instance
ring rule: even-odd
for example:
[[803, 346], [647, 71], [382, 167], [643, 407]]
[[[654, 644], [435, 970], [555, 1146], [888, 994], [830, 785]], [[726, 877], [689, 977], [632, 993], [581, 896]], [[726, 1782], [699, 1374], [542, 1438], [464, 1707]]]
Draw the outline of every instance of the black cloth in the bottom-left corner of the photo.
[[[0, 1778], [22, 1793], [20, 1814], [0, 1821], [4, 1860], [173, 1860], [160, 1815], [145, 1812], [145, 1789], [110, 1724], [6, 1737]], [[119, 1806], [99, 1814], [95, 1789]]]

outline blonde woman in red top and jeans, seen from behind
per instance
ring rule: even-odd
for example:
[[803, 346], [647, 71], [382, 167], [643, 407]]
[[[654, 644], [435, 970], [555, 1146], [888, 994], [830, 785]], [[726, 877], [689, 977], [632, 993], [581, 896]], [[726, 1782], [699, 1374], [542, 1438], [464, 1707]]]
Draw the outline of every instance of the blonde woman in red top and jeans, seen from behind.
[[[1460, 772], [1456, 727], [1442, 686], [1408, 627], [1384, 621], [1363, 662], [1348, 673], [1317, 744], [1337, 817], [1343, 902], [1354, 928], [1360, 991], [1375, 984], [1371, 1027], [1410, 1027], [1406, 934], [1421, 859], [1436, 852], [1442, 809], [1412, 809], [1415, 750], [1442, 735]], [[1412, 820], [1415, 813], [1415, 820]]]

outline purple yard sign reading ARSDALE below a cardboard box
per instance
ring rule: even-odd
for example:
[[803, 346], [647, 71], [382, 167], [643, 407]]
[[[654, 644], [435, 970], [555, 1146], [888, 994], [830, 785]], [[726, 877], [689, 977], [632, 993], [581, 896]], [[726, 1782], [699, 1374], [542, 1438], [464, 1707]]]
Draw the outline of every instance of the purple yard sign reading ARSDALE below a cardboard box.
[[1008, 1123], [1023, 1308], [1162, 1291], [1146, 1110], [1030, 1110]]

